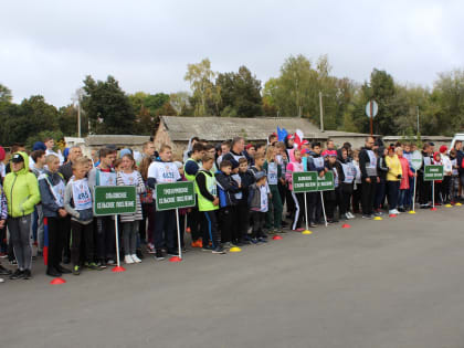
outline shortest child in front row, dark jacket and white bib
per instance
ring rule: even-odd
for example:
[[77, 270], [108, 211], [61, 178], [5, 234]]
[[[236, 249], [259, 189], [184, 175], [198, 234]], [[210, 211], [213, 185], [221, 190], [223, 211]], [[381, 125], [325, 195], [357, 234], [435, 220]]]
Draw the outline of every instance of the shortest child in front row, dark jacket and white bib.
[[266, 188], [266, 175], [263, 171], [255, 173], [256, 182], [249, 190], [249, 205], [252, 219], [252, 243], [266, 243], [263, 232], [266, 212], [268, 210], [268, 193]]

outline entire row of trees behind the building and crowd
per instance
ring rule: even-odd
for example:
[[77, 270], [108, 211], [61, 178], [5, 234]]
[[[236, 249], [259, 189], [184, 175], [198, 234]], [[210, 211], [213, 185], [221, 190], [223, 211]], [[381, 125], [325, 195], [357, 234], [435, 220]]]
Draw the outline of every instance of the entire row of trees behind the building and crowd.
[[[280, 74], [264, 84], [246, 67], [219, 73], [208, 59], [188, 64], [189, 92], [125, 93], [108, 76], [86, 76], [77, 93], [82, 108], [82, 135], [154, 134], [159, 116], [294, 117], [319, 125], [321, 94], [325, 129], [369, 131], [365, 107], [375, 99], [379, 113], [373, 131], [381, 135], [452, 135], [464, 126], [464, 71], [437, 74], [433, 87], [401, 84], [386, 71], [373, 68], [369, 81], [358, 83], [331, 74], [327, 55], [312, 61], [287, 57]], [[418, 129], [419, 115], [419, 129]], [[12, 103], [12, 92], [0, 84], [0, 144], [28, 145], [53, 136], [77, 133], [77, 107], [55, 107], [41, 95]]]

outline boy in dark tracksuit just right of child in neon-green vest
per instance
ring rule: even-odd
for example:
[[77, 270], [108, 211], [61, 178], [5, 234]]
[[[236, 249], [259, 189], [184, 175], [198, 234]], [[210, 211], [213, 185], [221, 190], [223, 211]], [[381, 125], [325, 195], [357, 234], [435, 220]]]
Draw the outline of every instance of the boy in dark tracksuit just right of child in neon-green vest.
[[236, 242], [236, 203], [235, 193], [241, 191], [239, 184], [231, 176], [232, 162], [223, 160], [219, 171], [215, 173], [219, 196], [219, 225], [221, 239], [224, 247], [231, 247], [232, 242]]

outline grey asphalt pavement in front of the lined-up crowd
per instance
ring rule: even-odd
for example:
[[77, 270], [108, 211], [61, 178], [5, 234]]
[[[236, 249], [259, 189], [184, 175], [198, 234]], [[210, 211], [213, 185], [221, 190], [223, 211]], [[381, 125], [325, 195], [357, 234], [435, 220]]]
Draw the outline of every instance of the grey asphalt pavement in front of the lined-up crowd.
[[464, 347], [462, 208], [0, 284], [0, 347]]

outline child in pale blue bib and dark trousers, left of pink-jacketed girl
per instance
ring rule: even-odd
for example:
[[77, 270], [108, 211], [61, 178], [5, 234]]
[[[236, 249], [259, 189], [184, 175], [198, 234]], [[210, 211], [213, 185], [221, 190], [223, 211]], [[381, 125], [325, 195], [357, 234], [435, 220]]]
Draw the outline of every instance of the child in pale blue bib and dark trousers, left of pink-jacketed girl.
[[282, 200], [278, 192], [278, 181], [283, 178], [282, 167], [278, 165], [277, 149], [270, 146], [266, 152], [266, 161], [264, 162], [264, 170], [267, 172], [267, 183], [271, 190], [270, 209], [266, 215], [266, 228], [274, 233], [282, 233]]

